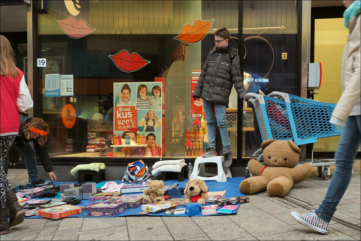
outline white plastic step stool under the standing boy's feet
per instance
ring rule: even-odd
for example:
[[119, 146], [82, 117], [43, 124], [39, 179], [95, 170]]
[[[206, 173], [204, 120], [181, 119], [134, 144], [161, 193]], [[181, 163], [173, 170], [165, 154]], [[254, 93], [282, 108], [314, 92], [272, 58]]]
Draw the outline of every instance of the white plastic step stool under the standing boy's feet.
[[[227, 177], [232, 178], [232, 174], [231, 174], [231, 171], [229, 170], [229, 168], [223, 167], [223, 160], [224, 160], [224, 156], [212, 156], [212, 157], [206, 157], [206, 158], [205, 157], [197, 158], [194, 161], [194, 168], [193, 168], [193, 172], [191, 175], [191, 180], [197, 178], [197, 179], [204, 180], [204, 181], [216, 180], [217, 182], [226, 182]], [[205, 172], [204, 163], [217, 163], [218, 173], [214, 174], [214, 173]]]

